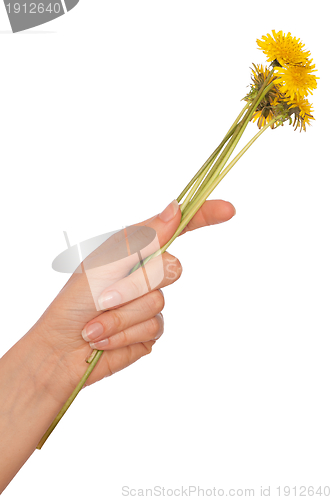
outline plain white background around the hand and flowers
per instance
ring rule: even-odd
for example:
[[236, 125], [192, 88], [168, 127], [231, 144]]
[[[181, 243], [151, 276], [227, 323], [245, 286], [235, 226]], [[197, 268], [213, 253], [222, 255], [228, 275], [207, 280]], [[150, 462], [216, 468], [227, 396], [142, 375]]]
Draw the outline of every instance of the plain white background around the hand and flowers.
[[4, 499], [120, 499], [124, 485], [332, 491], [326, 7], [81, 0], [13, 35], [0, 5], [1, 355], [68, 279], [51, 268], [63, 230], [75, 244], [178, 196], [265, 62], [256, 38], [300, 37], [320, 77], [313, 126], [268, 130], [213, 193], [234, 219], [170, 247], [183, 275], [165, 290], [153, 353], [84, 390]]

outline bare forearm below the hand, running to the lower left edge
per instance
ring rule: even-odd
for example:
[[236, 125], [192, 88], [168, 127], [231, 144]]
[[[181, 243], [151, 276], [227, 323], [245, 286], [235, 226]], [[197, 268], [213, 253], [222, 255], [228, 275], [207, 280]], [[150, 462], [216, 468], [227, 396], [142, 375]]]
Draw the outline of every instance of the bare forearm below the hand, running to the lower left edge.
[[0, 492], [34, 452], [75, 386], [57, 356], [32, 330], [0, 359]]

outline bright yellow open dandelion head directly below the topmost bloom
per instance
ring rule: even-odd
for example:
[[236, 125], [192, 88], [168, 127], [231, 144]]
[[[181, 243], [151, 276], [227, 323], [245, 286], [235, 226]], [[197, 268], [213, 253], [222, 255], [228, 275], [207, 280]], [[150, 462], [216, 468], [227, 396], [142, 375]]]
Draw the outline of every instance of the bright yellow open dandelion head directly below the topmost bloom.
[[[310, 61], [311, 62], [311, 61]], [[279, 76], [278, 84], [280, 91], [290, 96], [291, 99], [306, 97], [317, 88], [318, 77], [312, 73], [317, 71], [315, 65], [289, 66], [287, 68], [275, 68]]]

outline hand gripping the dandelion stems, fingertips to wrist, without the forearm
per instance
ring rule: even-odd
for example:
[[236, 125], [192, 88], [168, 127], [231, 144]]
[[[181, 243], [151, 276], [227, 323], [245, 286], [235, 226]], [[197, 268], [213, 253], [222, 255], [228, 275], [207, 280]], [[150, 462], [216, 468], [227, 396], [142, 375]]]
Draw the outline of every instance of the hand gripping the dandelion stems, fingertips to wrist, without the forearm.
[[[234, 214], [235, 209], [228, 202], [207, 201], [182, 234], [224, 222]], [[181, 211], [178, 209], [178, 204], [172, 202], [160, 215], [131, 228], [152, 228], [158, 236], [159, 245], [162, 246], [174, 234], [180, 219]], [[127, 228], [128, 232], [130, 228]], [[130, 269], [138, 261], [137, 253], [125, 259], [114, 259], [115, 261], [107, 266], [97, 267], [105, 261], [105, 255], [116, 253], [117, 237], [118, 235], [114, 235], [109, 238], [89, 255], [83, 262], [86, 272], [74, 273], [71, 276], [37, 324], [36, 332], [41, 342], [46, 343], [61, 360], [63, 375], [61, 383], [57, 377], [49, 381], [49, 389], [61, 401], [64, 393], [71, 392], [82, 377], [87, 367], [84, 361], [91, 354], [92, 348], [104, 350], [105, 353], [90, 375], [87, 385], [125, 368], [150, 353], [156, 339], [163, 332], [161, 310], [164, 307], [164, 297], [160, 288], [174, 283], [180, 277], [181, 265], [168, 252], [160, 256], [163, 277], [161, 281], [155, 280], [156, 286], [149, 291], [142, 269], [128, 276]], [[150, 245], [145, 249], [143, 257], [149, 255], [151, 250], [154, 248]], [[112, 259], [108, 258], [106, 262], [109, 260]], [[160, 265], [154, 263], [154, 260], [145, 266], [150, 282], [154, 281], [158, 271], [160, 273]], [[91, 267], [95, 267], [92, 277], [89, 270]], [[99, 275], [98, 270], [100, 270]], [[99, 297], [98, 293], [95, 293], [96, 290], [93, 290], [95, 295], [93, 297], [92, 282], [97, 283], [97, 290], [99, 287], [102, 292]], [[105, 282], [111, 286], [105, 287], [103, 285]], [[97, 311], [98, 299], [99, 304], [104, 300], [100, 311]], [[103, 312], [105, 309], [108, 310]], [[64, 391], [64, 384], [68, 385], [67, 391]]]

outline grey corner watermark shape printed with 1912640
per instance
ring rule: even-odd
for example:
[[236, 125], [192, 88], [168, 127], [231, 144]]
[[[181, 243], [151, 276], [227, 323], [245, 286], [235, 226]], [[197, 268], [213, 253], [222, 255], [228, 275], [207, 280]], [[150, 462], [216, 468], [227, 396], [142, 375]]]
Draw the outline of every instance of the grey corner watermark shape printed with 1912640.
[[73, 9], [79, 0], [4, 0], [13, 33], [53, 21]]

